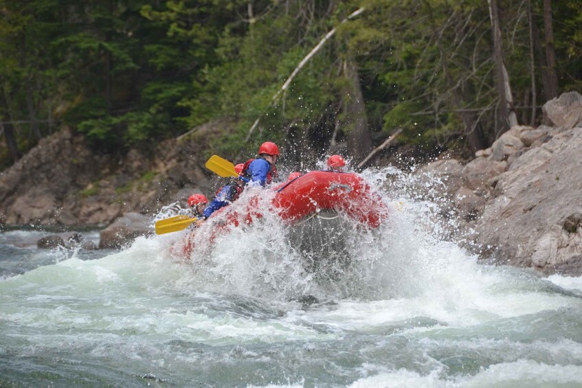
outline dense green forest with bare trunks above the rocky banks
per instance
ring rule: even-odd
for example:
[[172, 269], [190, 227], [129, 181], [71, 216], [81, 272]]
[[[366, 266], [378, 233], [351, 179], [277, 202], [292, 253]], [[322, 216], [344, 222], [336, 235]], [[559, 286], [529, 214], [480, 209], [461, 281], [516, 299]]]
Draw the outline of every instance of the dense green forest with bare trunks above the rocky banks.
[[123, 153], [201, 124], [212, 152], [345, 150], [402, 130], [469, 158], [582, 92], [579, 0], [0, 0], [0, 169], [67, 126]]

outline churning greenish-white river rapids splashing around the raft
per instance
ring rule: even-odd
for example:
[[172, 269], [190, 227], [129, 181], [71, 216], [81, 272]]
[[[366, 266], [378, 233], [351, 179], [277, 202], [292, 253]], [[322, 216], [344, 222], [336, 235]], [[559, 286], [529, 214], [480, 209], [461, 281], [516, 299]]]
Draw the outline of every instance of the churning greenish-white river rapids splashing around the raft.
[[363, 176], [390, 209], [377, 230], [267, 214], [201, 229], [187, 260], [190, 231], [101, 258], [3, 233], [0, 386], [582, 385], [582, 279], [480, 264], [413, 178]]

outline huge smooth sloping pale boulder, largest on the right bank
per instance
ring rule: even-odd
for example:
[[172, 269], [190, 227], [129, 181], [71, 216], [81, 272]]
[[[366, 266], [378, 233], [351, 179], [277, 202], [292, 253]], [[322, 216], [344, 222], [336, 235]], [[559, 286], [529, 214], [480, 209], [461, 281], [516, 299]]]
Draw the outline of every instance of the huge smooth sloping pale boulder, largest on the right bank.
[[562, 130], [497, 176], [495, 198], [475, 231], [480, 242], [495, 245], [498, 259], [537, 269], [577, 262], [574, 258], [582, 253], [581, 150], [582, 128]]

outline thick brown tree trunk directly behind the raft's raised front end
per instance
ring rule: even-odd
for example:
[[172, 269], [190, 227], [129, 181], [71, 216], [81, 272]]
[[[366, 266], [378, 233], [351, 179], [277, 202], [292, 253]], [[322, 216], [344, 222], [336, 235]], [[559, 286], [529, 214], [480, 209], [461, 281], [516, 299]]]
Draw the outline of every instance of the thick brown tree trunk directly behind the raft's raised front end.
[[355, 162], [361, 161], [372, 150], [372, 137], [368, 130], [368, 116], [363, 104], [361, 84], [355, 62], [352, 58], [344, 62], [344, 75], [348, 87], [344, 88], [344, 131], [348, 134], [348, 150]]

